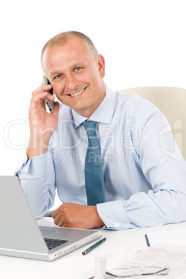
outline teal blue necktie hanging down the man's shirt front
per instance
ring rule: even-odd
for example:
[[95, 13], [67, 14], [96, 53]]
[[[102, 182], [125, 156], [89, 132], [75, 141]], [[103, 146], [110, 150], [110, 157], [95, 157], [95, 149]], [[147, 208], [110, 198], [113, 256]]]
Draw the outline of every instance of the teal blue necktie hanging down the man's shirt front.
[[105, 202], [105, 183], [101, 164], [101, 148], [96, 137], [95, 121], [84, 121], [88, 137], [88, 148], [85, 158], [85, 187], [87, 192], [87, 205], [96, 205]]

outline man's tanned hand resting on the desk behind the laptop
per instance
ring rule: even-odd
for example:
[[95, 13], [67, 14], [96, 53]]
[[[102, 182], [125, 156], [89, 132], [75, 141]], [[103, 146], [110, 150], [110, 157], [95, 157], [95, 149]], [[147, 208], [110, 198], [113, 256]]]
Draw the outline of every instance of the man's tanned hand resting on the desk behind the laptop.
[[94, 228], [96, 226], [104, 226], [96, 206], [63, 203], [53, 212], [51, 217], [59, 227]]

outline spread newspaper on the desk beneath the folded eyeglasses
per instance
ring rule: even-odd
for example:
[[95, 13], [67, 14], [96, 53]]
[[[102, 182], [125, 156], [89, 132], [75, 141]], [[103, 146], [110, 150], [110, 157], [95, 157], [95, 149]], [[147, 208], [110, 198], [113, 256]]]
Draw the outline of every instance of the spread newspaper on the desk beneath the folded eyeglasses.
[[105, 271], [131, 267], [169, 268], [167, 275], [135, 276], [145, 279], [185, 279], [186, 278], [186, 246], [155, 244], [149, 248], [130, 248], [119, 253], [97, 256], [95, 258], [95, 279], [113, 278], [105, 275]]

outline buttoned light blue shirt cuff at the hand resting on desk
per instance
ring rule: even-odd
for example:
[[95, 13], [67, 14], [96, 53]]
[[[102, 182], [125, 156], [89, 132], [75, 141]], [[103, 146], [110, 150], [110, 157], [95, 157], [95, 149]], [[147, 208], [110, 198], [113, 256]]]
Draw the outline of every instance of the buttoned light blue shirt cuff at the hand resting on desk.
[[110, 201], [108, 203], [99, 203], [96, 205], [99, 217], [102, 219], [105, 229], [111, 230], [126, 230], [135, 228], [128, 221], [124, 210], [123, 201]]

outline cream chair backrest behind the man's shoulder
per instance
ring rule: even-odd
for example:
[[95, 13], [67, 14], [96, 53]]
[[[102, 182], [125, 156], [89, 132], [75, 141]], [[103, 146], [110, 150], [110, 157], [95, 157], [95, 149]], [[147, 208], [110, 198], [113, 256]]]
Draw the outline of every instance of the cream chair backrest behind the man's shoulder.
[[121, 93], [138, 94], [154, 103], [162, 111], [186, 160], [186, 89], [177, 87], [135, 87], [120, 90]]

